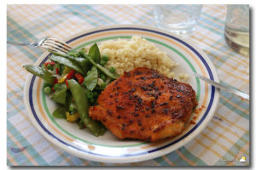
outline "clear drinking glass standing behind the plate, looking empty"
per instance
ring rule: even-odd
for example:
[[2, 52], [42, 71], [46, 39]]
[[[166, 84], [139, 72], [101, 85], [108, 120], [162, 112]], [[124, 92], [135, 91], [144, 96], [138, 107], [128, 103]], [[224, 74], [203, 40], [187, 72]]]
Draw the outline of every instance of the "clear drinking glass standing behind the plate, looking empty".
[[188, 34], [195, 29], [202, 5], [154, 5], [154, 20], [161, 29], [177, 34]]

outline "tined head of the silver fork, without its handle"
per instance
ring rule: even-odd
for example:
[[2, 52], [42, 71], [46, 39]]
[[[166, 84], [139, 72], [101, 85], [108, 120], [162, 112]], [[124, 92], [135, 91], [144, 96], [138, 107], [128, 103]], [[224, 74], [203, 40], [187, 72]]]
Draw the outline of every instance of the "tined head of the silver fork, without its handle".
[[62, 52], [67, 54], [72, 48], [67, 45], [67, 43], [60, 42], [53, 37], [45, 38], [44, 42], [42, 43], [42, 47], [48, 48], [55, 52]]

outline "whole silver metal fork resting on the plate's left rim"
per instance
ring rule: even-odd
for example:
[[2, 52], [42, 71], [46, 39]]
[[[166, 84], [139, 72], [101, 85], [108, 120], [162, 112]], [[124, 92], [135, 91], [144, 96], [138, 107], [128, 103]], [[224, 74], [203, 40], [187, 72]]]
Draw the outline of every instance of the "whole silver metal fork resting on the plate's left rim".
[[48, 50], [52, 50], [55, 52], [62, 52], [65, 54], [67, 54], [72, 49], [70, 46], [67, 45], [67, 43], [60, 42], [54, 37], [43, 37], [38, 42], [23, 43], [23, 42], [7, 41], [7, 43], [12, 45], [28, 46], [28, 47], [34, 47], [34, 48], [42, 47]]

